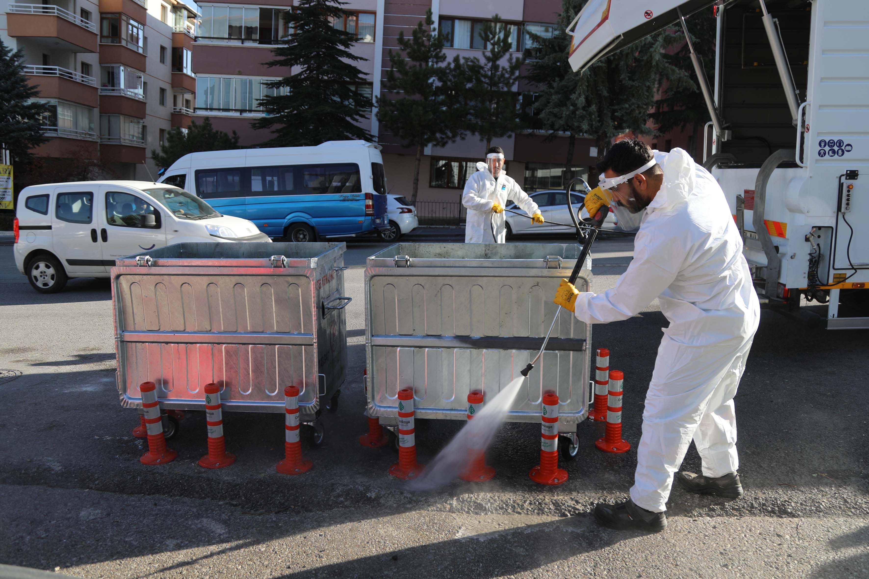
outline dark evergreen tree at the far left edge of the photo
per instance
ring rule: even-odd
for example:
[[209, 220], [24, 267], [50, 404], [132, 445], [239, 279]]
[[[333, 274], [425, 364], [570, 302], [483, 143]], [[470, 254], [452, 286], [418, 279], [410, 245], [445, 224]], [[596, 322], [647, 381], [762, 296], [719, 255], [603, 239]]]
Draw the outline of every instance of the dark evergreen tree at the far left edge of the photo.
[[13, 164], [23, 168], [33, 160], [30, 149], [48, 141], [41, 119], [49, 107], [33, 102], [39, 89], [24, 76], [24, 52], [15, 52], [0, 40], [0, 146], [10, 151]]

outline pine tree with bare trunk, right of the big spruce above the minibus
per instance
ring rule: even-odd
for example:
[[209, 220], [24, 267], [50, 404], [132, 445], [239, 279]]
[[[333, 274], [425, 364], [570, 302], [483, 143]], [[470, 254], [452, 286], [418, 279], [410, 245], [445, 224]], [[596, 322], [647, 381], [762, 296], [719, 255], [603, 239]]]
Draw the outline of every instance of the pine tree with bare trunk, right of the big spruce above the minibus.
[[446, 40], [434, 27], [431, 10], [410, 38], [399, 32], [401, 49], [389, 51], [389, 71], [383, 83], [389, 96], [377, 97], [377, 120], [416, 151], [411, 205], [419, 192], [423, 149], [428, 144], [443, 147], [465, 132], [463, 95], [468, 82], [459, 56], [447, 63]]

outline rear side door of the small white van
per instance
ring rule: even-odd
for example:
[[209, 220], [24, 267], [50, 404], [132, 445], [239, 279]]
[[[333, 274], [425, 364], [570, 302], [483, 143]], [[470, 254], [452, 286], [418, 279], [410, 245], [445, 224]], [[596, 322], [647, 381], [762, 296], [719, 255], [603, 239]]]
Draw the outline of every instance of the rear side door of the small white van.
[[72, 276], [109, 271], [103, 261], [103, 240], [96, 217], [98, 193], [99, 187], [87, 184], [54, 190], [50, 207], [52, 247]]

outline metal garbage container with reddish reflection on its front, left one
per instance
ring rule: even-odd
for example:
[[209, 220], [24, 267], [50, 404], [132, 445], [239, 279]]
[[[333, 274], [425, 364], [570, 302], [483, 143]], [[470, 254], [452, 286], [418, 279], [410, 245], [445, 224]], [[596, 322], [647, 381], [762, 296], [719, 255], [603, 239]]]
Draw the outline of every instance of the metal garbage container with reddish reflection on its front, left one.
[[154, 382], [164, 409], [283, 412], [299, 387], [302, 422], [337, 404], [347, 373], [344, 243], [179, 243], [111, 270], [117, 389], [141, 408]]

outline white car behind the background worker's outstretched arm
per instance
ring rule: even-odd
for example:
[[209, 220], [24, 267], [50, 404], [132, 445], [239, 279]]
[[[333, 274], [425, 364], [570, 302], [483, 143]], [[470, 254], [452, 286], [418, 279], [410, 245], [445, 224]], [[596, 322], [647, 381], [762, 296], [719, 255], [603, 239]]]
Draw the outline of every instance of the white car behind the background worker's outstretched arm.
[[[580, 219], [587, 218], [588, 214], [583, 208], [586, 194], [574, 191], [570, 195], [570, 202], [574, 206], [574, 211], [581, 210]], [[570, 209], [567, 207], [567, 193], [563, 189], [537, 191], [529, 193], [528, 196], [534, 200], [537, 207], [540, 207], [544, 219], [543, 225], [534, 225], [530, 219], [524, 216], [525, 212], [516, 207], [511, 201], [507, 203], [506, 208], [517, 211], [521, 215], [507, 213], [507, 237], [531, 234], [573, 234], [576, 231], [573, 225], [570, 225], [572, 221], [570, 219]], [[562, 227], [561, 225], [554, 225], [554, 223], [562, 223], [570, 225], [570, 227]], [[604, 231], [621, 231], [621, 227], [618, 226], [619, 222], [615, 219], [615, 215], [610, 212], [607, 214], [607, 219], [604, 220], [603, 227], [600, 228]]]

